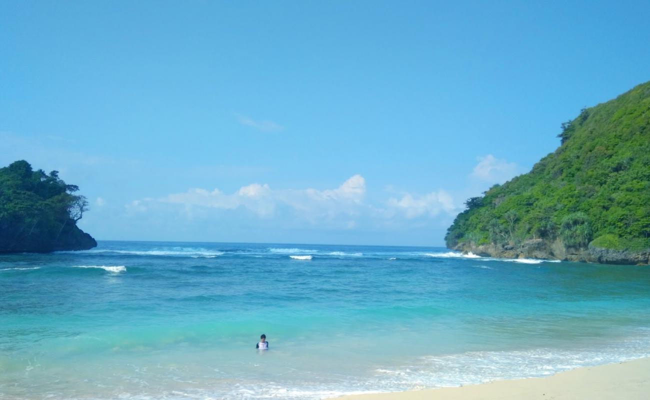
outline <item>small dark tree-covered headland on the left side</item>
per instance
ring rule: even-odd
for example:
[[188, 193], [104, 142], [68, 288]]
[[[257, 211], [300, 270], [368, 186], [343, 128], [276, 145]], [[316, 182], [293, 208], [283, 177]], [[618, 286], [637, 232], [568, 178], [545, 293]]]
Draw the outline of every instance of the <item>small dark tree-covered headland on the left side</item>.
[[0, 168], [0, 252], [49, 252], [95, 247], [77, 228], [88, 210], [79, 190], [59, 172], [32, 170], [27, 161]]

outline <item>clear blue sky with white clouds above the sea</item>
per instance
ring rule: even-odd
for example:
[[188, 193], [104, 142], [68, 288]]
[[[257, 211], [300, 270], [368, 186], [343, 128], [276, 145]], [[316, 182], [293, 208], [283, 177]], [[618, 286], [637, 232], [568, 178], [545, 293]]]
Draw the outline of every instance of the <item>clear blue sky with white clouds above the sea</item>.
[[585, 106], [650, 80], [647, 1], [3, 1], [0, 165], [97, 239], [441, 246]]

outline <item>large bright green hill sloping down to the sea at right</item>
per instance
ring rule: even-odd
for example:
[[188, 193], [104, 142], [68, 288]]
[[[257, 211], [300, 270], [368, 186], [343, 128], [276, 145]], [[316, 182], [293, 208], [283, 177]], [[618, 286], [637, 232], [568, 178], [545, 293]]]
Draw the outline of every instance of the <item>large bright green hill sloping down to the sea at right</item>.
[[650, 260], [650, 82], [562, 124], [530, 172], [467, 200], [447, 247], [500, 257]]

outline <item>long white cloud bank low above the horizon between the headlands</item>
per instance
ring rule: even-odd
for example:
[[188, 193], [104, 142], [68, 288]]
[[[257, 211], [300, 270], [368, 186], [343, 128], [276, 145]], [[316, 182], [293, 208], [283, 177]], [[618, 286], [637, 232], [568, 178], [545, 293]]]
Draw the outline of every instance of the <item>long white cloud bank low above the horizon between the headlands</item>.
[[[197, 188], [157, 199], [135, 200], [127, 210], [173, 215], [175, 209], [177, 215], [188, 220], [212, 224], [217, 220], [239, 220], [253, 227], [264, 224], [277, 229], [333, 230], [387, 226], [406, 229], [413, 223], [422, 227], [432, 219], [447, 220], [459, 211], [444, 190], [422, 195], [402, 193], [382, 202], [383, 206], [373, 205], [366, 196], [366, 181], [356, 174], [333, 189], [272, 189], [261, 183], [242, 186], [233, 193]], [[209, 219], [213, 222], [207, 222]]]

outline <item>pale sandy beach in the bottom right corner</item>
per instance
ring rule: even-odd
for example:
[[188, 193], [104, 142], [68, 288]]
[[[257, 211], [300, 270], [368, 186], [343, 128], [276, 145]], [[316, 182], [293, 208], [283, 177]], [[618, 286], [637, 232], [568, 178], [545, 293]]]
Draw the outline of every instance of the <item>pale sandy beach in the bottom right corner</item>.
[[545, 378], [497, 380], [485, 384], [339, 397], [346, 400], [597, 400], [647, 399], [650, 358], [584, 367]]

